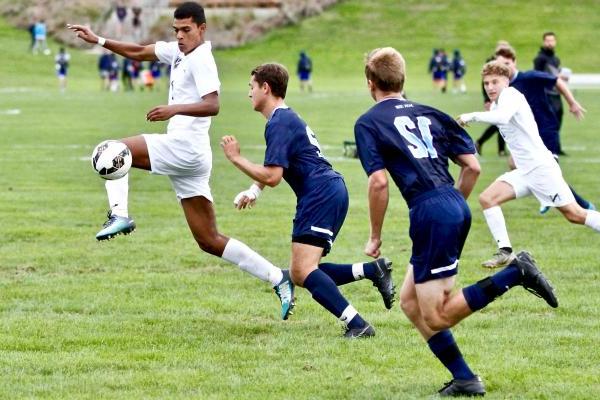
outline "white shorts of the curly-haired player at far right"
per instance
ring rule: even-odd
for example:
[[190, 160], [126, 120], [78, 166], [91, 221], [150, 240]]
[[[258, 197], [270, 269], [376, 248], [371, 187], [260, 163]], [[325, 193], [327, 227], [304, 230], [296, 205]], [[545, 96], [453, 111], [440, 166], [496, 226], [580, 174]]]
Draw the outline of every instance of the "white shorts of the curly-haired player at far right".
[[517, 198], [533, 194], [542, 206], [562, 207], [575, 202], [558, 164], [541, 165], [527, 173], [517, 168], [496, 180], [512, 186]]

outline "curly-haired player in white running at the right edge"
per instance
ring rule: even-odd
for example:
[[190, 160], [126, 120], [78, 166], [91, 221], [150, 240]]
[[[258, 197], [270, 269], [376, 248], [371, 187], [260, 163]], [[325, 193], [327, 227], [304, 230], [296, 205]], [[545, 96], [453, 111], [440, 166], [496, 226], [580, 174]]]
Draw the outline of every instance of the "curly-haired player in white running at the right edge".
[[514, 259], [500, 205], [515, 198], [533, 194], [543, 206], [556, 207], [569, 222], [600, 232], [600, 213], [585, 210], [575, 202], [558, 163], [540, 138], [525, 96], [509, 87], [510, 69], [492, 61], [484, 65], [481, 75], [492, 101], [491, 110], [462, 114], [457, 121], [463, 126], [472, 121], [497, 125], [517, 167], [498, 177], [479, 196], [483, 215], [498, 245], [498, 252], [482, 265], [502, 267]]

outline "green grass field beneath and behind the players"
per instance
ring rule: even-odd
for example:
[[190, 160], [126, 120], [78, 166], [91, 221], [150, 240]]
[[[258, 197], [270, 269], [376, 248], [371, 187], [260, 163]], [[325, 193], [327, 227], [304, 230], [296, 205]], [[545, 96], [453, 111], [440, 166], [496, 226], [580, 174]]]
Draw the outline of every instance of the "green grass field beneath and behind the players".
[[[348, 218], [326, 259], [331, 262], [365, 259], [366, 177], [357, 160], [342, 157], [341, 144], [372, 104], [361, 75], [361, 57], [370, 48], [397, 46], [407, 55], [409, 96], [450, 115], [481, 107], [475, 71], [497, 39], [514, 43], [529, 67], [541, 31], [558, 26], [563, 63], [594, 72], [597, 60], [589, 54], [598, 54], [599, 45], [587, 38], [600, 25], [597, 1], [545, 2], [539, 9], [498, 1], [495, 8], [518, 11], [501, 14], [500, 21], [488, 4], [347, 1], [256, 44], [216, 52], [223, 92], [211, 132], [211, 186], [219, 228], [287, 264], [291, 190], [285, 184], [266, 190], [257, 207], [237, 212], [232, 199], [249, 181], [217, 144], [234, 134], [244, 154], [262, 161], [264, 120], [246, 97], [248, 71], [259, 62], [292, 65], [296, 48], [305, 48], [318, 65], [316, 92], [302, 94], [292, 81], [288, 103], [317, 133], [350, 192]], [[531, 15], [538, 18], [531, 22]], [[26, 32], [0, 23], [0, 37], [11, 60], [0, 63], [0, 398], [408, 399], [431, 398], [448, 380], [400, 309], [386, 311], [369, 282], [342, 291], [377, 329], [372, 340], [341, 339], [340, 325], [304, 290], [297, 293], [296, 314], [280, 321], [268, 285], [198, 250], [165, 177], [133, 171], [130, 212], [138, 230], [96, 243], [107, 203], [89, 154], [105, 138], [163, 131], [165, 124], [147, 123], [144, 115], [165, 102], [166, 84], [154, 93], [100, 92], [96, 56], [71, 50], [69, 89], [61, 94], [52, 61], [26, 53]], [[431, 91], [426, 63], [439, 45], [464, 49], [468, 94]], [[583, 122], [565, 117], [569, 156], [561, 166], [598, 204], [600, 100], [597, 91], [576, 96], [588, 113]], [[469, 132], [477, 137], [484, 128], [473, 125]], [[494, 147], [488, 142], [484, 148], [483, 172], [469, 201], [473, 227], [461, 286], [487, 274], [478, 264], [494, 251], [476, 201], [506, 169]], [[515, 288], [454, 330], [459, 346], [484, 378], [488, 398], [596, 399], [600, 238], [556, 211], [539, 216], [532, 199], [504, 209], [513, 244], [536, 256], [560, 307], [550, 309]], [[410, 255], [407, 228], [406, 206], [392, 191], [383, 251], [394, 261], [398, 284]]]

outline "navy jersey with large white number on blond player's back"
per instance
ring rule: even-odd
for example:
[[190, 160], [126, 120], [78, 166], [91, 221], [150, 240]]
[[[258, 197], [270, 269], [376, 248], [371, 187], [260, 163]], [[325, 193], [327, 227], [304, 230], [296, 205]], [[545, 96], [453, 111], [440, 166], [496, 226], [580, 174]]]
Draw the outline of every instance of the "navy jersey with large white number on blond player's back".
[[402, 99], [373, 106], [356, 121], [354, 136], [367, 175], [387, 169], [409, 207], [421, 194], [454, 185], [448, 158], [475, 153], [452, 117]]

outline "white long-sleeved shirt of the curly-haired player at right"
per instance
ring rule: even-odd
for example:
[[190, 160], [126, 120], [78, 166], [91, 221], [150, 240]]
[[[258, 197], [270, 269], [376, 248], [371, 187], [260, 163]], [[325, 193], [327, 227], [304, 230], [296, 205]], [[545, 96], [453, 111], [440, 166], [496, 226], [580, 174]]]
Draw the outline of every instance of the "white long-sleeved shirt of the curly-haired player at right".
[[490, 111], [460, 116], [464, 122], [487, 122], [496, 125], [504, 137], [515, 165], [524, 173], [544, 165], [555, 164], [552, 153], [540, 138], [535, 118], [525, 96], [517, 89], [502, 90]]

